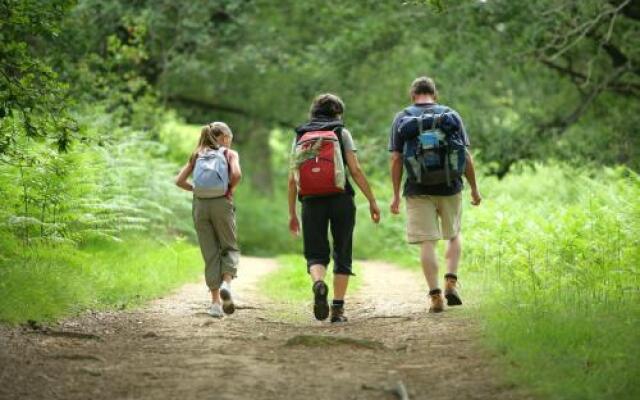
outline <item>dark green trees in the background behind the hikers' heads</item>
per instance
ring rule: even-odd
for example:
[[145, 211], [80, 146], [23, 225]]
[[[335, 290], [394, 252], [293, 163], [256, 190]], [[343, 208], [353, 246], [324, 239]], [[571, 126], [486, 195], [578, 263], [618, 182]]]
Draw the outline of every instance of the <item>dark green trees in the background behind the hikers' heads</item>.
[[[117, 37], [135, 49], [122, 52], [137, 55], [129, 74], [152, 82], [190, 121], [230, 122], [259, 164], [269, 161], [261, 150], [273, 129], [301, 122], [313, 96], [327, 91], [346, 101], [363, 147], [384, 147], [409, 83], [428, 74], [461, 112], [491, 174], [522, 160], [637, 169], [638, 120], [627, 112], [639, 87], [630, 2], [228, 0], [179, 12], [170, 3], [85, 0], [73, 20], [99, 19], [76, 27], [86, 48]], [[383, 158], [376, 152], [367, 164]], [[268, 171], [252, 172], [254, 185], [271, 187]]]

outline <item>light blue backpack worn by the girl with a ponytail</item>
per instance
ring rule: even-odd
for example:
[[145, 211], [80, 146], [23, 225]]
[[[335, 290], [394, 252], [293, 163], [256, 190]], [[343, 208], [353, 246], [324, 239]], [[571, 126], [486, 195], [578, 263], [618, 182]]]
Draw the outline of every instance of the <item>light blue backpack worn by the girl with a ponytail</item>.
[[193, 171], [193, 194], [198, 198], [223, 197], [229, 189], [227, 149], [198, 153]]

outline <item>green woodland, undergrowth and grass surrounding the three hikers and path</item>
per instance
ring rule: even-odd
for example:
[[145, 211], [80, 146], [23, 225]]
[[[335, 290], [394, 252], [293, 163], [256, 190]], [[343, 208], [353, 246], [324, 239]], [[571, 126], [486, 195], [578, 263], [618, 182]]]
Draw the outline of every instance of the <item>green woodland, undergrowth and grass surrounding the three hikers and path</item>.
[[[214, 120], [245, 171], [244, 254], [300, 252], [288, 149], [321, 92], [345, 101], [386, 210], [389, 126], [426, 74], [480, 173], [462, 271], [487, 345], [543, 393], [632, 398], [639, 21], [635, 0], [2, 0], [0, 320], [129, 307], [197, 278], [173, 177]], [[370, 228], [363, 201], [356, 257], [418, 268], [403, 217]]]

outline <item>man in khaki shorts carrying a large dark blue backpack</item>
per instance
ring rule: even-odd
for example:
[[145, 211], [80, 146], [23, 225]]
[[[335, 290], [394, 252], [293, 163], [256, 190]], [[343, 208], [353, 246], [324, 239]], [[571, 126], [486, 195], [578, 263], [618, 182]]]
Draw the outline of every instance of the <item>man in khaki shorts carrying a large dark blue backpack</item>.
[[422, 270], [429, 286], [429, 312], [444, 309], [438, 285], [435, 247], [448, 241], [445, 258], [444, 296], [448, 306], [461, 305], [457, 291], [458, 263], [462, 255], [462, 177], [471, 187], [471, 204], [482, 201], [475, 177], [473, 158], [468, 151], [469, 137], [460, 115], [438, 104], [435, 83], [420, 77], [411, 84], [413, 105], [399, 112], [391, 126], [392, 214], [400, 210], [400, 182], [403, 169], [407, 178], [403, 196], [407, 208], [407, 241], [419, 244]]

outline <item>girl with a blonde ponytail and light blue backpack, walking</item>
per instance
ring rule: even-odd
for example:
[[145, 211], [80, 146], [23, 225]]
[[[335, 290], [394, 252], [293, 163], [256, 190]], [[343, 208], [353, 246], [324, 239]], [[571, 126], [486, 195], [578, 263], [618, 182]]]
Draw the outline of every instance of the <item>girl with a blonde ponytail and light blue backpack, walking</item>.
[[176, 177], [178, 187], [193, 192], [193, 222], [211, 292], [209, 315], [214, 318], [235, 311], [231, 280], [236, 277], [240, 250], [232, 196], [242, 172], [232, 141], [233, 133], [224, 122], [202, 127], [196, 149]]

